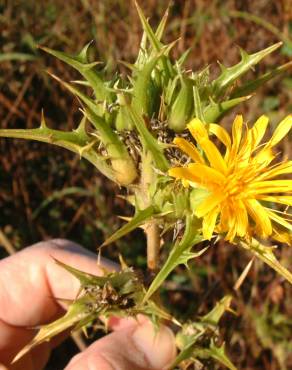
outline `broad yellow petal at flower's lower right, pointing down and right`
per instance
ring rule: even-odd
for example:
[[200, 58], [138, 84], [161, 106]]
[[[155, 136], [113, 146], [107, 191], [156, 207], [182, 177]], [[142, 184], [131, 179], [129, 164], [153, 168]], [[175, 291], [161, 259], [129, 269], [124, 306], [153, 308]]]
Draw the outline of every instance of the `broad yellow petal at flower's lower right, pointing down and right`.
[[246, 199], [244, 204], [248, 214], [256, 223], [256, 226], [261, 230], [263, 236], [272, 234], [272, 223], [266, 209], [255, 199]]

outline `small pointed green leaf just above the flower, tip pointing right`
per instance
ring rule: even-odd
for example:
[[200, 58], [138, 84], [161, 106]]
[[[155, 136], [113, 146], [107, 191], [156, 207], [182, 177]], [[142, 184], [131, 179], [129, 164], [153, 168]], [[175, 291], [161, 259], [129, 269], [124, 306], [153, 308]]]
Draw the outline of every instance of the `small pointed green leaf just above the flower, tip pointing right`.
[[252, 95], [242, 96], [231, 100], [226, 100], [221, 103], [211, 103], [204, 110], [204, 120], [206, 123], [217, 122], [224, 114], [228, 113], [230, 109], [236, 107], [238, 104], [250, 99]]

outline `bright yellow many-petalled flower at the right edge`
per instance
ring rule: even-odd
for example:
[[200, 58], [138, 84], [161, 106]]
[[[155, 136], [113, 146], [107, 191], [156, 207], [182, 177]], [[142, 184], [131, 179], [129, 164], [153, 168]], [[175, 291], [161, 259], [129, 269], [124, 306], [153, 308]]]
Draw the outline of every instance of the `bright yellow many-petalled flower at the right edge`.
[[[261, 116], [252, 128], [243, 127], [242, 116], [233, 122], [231, 137], [217, 124], [210, 124], [209, 132], [197, 118], [188, 129], [196, 140], [195, 145], [183, 138], [176, 144], [193, 163], [169, 170], [169, 175], [181, 179], [185, 186], [205, 189], [206, 196], [195, 207], [195, 215], [203, 219], [202, 232], [210, 239], [214, 230], [225, 233], [226, 240], [236, 236], [250, 238], [256, 233], [262, 238], [279, 236], [277, 224], [292, 231], [291, 214], [271, 208], [279, 203], [292, 206], [292, 180], [275, 179], [292, 174], [292, 161], [271, 164], [276, 157], [273, 148], [292, 127], [292, 116], [277, 126], [272, 137], [260, 145], [268, 125], [268, 118]], [[214, 134], [225, 147], [221, 154], [210, 140]], [[287, 235], [287, 233], [286, 233]]]

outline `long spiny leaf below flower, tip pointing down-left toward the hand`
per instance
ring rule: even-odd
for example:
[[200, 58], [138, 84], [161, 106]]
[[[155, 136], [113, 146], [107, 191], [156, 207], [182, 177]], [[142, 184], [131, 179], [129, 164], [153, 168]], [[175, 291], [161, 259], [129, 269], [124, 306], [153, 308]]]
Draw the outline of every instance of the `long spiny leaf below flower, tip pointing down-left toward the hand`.
[[163, 284], [167, 276], [180, 264], [187, 264], [190, 258], [199, 257], [207, 249], [204, 248], [199, 252], [191, 252], [191, 248], [200, 243], [203, 240], [202, 236], [198, 233], [198, 221], [192, 216], [187, 216], [186, 219], [186, 228], [183, 235], [183, 238], [180, 241], [177, 241], [172, 248], [169, 257], [162, 266], [159, 273], [156, 275], [152, 284], [150, 285], [147, 293], [144, 297], [144, 302], [149, 299], [153, 293]]

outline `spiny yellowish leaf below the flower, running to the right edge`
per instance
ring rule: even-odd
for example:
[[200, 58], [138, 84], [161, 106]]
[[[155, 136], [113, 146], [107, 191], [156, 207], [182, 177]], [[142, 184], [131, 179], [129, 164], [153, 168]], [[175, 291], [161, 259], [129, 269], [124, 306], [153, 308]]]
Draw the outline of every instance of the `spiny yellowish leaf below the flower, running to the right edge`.
[[249, 244], [246, 242], [241, 242], [240, 246], [249, 250], [256, 257], [269, 265], [273, 270], [283, 276], [283, 278], [285, 278], [290, 284], [292, 284], [292, 273], [277, 260], [273, 253], [273, 247], [267, 247], [255, 239], [252, 239], [251, 243]]

